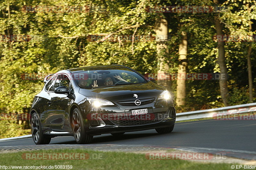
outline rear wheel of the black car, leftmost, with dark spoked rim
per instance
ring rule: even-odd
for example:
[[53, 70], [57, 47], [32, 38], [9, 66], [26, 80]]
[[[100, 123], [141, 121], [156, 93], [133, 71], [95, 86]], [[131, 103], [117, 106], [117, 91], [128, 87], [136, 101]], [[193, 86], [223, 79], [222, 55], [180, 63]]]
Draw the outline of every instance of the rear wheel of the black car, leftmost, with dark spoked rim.
[[31, 134], [35, 144], [49, 144], [51, 137], [43, 134], [42, 125], [36, 113], [33, 113], [30, 119]]

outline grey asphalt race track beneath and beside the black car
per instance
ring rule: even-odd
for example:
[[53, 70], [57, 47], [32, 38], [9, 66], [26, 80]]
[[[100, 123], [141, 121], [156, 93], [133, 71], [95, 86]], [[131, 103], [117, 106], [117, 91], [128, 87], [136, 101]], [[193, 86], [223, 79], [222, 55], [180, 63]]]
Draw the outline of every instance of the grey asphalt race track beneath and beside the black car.
[[[94, 136], [92, 144], [146, 144], [256, 151], [256, 121], [204, 120], [176, 123], [168, 134], [155, 129], [127, 132], [121, 137]], [[76, 144], [74, 137], [55, 137], [50, 144]], [[32, 138], [0, 142], [0, 146], [35, 145]]]

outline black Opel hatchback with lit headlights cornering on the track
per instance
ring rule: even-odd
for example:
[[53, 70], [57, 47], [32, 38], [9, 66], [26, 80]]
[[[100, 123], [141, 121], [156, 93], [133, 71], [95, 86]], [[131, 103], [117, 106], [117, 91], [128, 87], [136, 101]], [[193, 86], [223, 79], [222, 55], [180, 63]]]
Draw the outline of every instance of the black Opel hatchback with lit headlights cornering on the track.
[[78, 144], [94, 135], [156, 129], [171, 132], [174, 102], [165, 87], [122, 65], [61, 70], [44, 78], [30, 110], [35, 144], [74, 136]]

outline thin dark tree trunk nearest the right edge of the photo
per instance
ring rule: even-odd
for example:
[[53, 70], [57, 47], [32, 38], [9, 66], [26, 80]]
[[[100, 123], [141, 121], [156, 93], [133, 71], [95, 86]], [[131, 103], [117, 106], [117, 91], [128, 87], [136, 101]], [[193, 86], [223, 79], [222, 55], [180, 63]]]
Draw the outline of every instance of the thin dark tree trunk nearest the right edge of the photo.
[[[246, 4], [248, 13], [251, 13], [251, 8], [249, 4]], [[249, 20], [249, 30], [252, 31], [252, 23]], [[252, 44], [249, 44], [248, 53], [247, 53], [247, 67], [248, 67], [248, 83], [249, 83], [249, 101], [250, 103], [253, 102], [253, 95], [252, 95], [252, 64], [251, 64], [251, 54], [252, 54]]]

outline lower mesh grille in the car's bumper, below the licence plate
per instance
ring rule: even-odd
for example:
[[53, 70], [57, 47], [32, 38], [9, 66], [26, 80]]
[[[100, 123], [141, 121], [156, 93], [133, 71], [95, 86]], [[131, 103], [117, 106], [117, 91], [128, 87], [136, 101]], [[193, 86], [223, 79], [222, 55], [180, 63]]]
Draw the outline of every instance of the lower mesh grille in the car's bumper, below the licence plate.
[[[138, 115], [129, 115], [127, 117], [119, 118], [119, 120], [111, 120], [111, 122], [115, 123], [117, 126], [136, 126], [136, 125], [146, 125], [150, 123], [156, 123], [164, 119], [165, 112], [160, 112], [160, 113], [151, 113], [152, 119], [150, 118], [149, 120], [136, 120], [135, 116]], [[154, 115], [154, 117], [153, 117]], [[138, 118], [137, 118], [138, 119]]]

